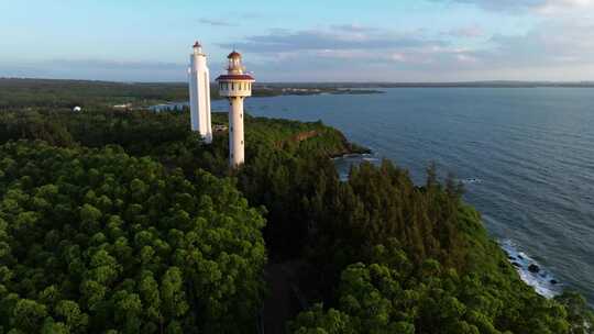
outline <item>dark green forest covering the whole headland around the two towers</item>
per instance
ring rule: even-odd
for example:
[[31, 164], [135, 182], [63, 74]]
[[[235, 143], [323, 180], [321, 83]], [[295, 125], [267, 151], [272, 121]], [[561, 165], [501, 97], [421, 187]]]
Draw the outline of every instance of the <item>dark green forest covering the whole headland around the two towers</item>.
[[206, 145], [188, 120], [0, 111], [0, 333], [258, 333], [266, 266], [296, 259], [287, 333], [593, 332], [581, 296], [520, 280], [433, 166], [424, 185], [389, 160], [340, 180], [330, 157], [364, 147], [246, 116], [234, 170], [227, 133]]

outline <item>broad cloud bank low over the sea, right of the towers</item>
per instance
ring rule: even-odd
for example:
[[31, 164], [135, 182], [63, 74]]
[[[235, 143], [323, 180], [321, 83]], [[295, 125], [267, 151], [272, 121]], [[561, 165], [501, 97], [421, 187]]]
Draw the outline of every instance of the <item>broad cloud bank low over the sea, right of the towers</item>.
[[262, 80], [585, 80], [592, 31], [594, 21], [548, 16], [517, 35], [479, 25], [431, 34], [345, 24], [273, 30], [237, 46]]

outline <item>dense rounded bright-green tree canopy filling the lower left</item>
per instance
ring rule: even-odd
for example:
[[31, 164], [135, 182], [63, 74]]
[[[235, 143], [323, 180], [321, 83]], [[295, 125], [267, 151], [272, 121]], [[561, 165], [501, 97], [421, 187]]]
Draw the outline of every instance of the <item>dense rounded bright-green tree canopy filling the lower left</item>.
[[[229, 180], [116, 146], [0, 146], [0, 325], [23, 333], [242, 332], [264, 219]], [[177, 329], [177, 330], [176, 330]]]

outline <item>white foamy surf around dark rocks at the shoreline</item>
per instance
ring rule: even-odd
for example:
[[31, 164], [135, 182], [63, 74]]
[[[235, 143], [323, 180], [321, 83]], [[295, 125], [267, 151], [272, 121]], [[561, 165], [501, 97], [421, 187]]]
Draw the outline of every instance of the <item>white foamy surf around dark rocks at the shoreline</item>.
[[[532, 287], [538, 294], [546, 298], [553, 298], [562, 292], [561, 283], [535, 259], [524, 252], [518, 250], [517, 245], [513, 241], [499, 241], [499, 245], [507, 254], [509, 261], [518, 271], [521, 280]], [[538, 267], [538, 272], [530, 271], [529, 267], [531, 265]]]

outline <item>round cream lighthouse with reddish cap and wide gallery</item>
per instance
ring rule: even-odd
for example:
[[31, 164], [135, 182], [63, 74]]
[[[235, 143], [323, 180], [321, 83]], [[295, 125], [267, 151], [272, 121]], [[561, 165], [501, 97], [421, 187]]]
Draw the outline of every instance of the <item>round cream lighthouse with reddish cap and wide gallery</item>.
[[245, 73], [241, 54], [233, 51], [227, 57], [227, 75], [219, 76], [219, 94], [229, 100], [229, 165], [238, 167], [245, 162], [243, 142], [243, 100], [252, 96], [254, 78]]

